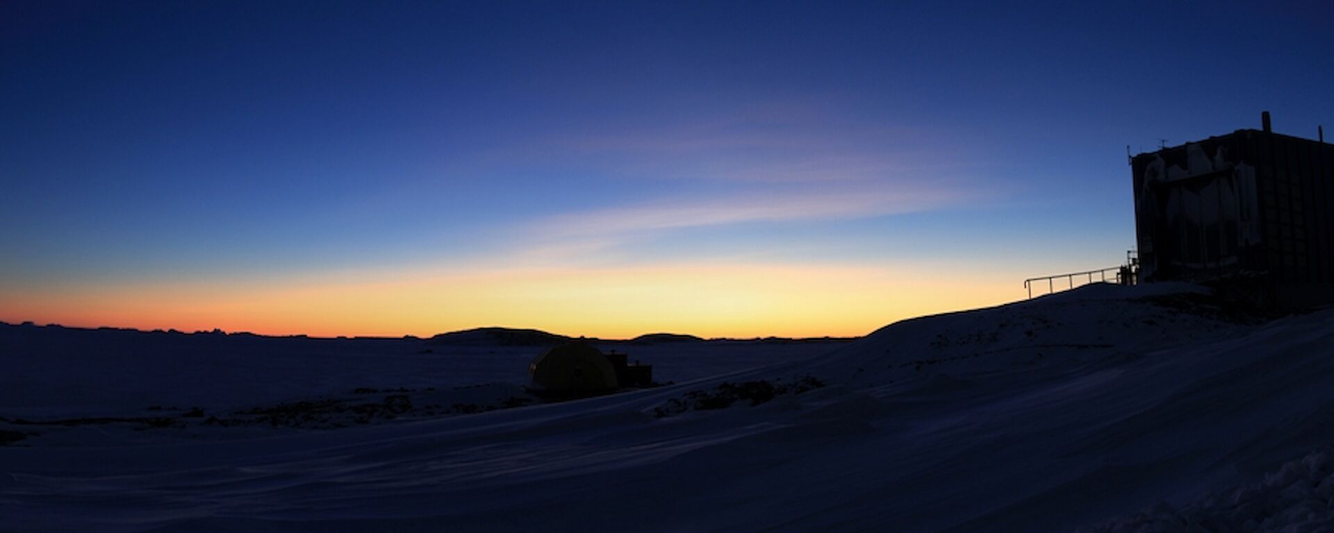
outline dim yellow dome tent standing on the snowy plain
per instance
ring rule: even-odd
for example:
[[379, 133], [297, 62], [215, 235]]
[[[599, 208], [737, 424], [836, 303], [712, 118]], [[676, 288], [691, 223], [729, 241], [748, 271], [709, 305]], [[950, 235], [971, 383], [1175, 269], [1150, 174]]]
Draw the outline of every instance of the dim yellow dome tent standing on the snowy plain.
[[595, 394], [615, 390], [616, 368], [584, 342], [551, 348], [528, 365], [532, 382], [554, 394]]

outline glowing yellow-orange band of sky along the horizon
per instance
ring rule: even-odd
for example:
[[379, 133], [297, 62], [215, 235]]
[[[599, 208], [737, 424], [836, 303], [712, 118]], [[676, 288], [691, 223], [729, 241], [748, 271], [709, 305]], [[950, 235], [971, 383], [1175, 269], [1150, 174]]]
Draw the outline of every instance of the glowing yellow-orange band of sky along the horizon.
[[431, 336], [492, 325], [603, 338], [862, 336], [903, 318], [1023, 297], [1013, 285], [1009, 276], [926, 266], [423, 269], [17, 292], [3, 294], [0, 320], [320, 337]]

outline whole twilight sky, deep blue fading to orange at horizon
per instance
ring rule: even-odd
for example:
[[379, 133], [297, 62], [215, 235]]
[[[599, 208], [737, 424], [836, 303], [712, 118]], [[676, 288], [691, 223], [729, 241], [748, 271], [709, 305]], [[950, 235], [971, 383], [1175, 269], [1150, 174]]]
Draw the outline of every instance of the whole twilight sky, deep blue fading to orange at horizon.
[[864, 334], [1119, 264], [1126, 145], [1334, 135], [1329, 1], [896, 4], [7, 1], [0, 320]]

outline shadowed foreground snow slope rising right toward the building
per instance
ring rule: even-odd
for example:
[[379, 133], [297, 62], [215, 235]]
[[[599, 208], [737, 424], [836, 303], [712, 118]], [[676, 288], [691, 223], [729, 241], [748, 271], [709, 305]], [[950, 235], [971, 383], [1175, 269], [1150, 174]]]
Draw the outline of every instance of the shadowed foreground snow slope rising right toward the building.
[[[1159, 530], [1127, 513], [1214, 509], [1191, 502], [1334, 444], [1334, 310], [1263, 321], [1214, 304], [1189, 285], [1089, 285], [898, 322], [830, 354], [563, 404], [244, 438], [189, 426], [99, 441], [107, 426], [77, 426], [65, 434], [79, 442], [0, 448], [0, 524]], [[803, 378], [824, 386], [663, 409]], [[44, 394], [5, 392], [0, 408], [52, 398], [25, 393]]]

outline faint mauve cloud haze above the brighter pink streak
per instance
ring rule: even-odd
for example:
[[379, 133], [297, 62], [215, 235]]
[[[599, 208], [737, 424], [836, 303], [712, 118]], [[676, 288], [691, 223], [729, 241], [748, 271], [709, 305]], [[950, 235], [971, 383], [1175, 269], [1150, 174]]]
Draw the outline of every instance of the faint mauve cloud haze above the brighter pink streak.
[[626, 176], [740, 183], [872, 180], [912, 171], [976, 168], [959, 132], [878, 123], [826, 107], [776, 107], [603, 124], [551, 149]]

